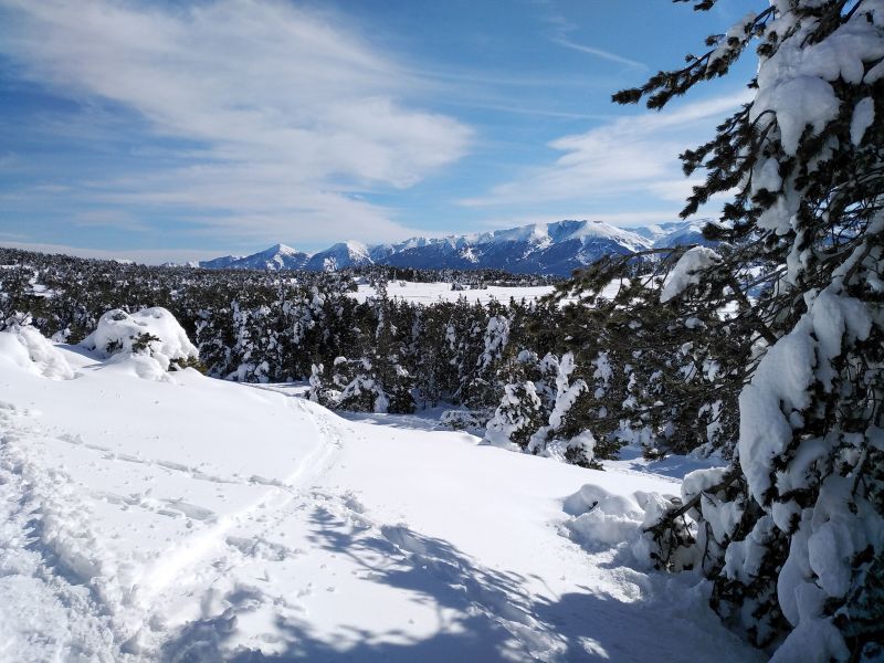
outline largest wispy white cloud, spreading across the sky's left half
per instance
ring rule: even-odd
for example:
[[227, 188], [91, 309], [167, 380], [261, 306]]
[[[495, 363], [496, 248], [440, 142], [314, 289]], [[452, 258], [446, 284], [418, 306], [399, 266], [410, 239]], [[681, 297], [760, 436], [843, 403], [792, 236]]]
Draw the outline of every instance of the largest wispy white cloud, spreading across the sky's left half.
[[0, 8], [0, 53], [24, 75], [120, 104], [154, 133], [201, 146], [200, 166], [148, 173], [135, 187], [92, 182], [97, 198], [186, 203], [221, 219], [219, 231], [265, 239], [256, 219], [287, 236], [322, 223], [326, 239], [340, 236], [344, 219], [364, 236], [366, 223], [379, 223], [388, 239], [403, 229], [351, 194], [409, 187], [467, 149], [470, 129], [404, 103], [413, 76], [337, 17], [282, 0]]

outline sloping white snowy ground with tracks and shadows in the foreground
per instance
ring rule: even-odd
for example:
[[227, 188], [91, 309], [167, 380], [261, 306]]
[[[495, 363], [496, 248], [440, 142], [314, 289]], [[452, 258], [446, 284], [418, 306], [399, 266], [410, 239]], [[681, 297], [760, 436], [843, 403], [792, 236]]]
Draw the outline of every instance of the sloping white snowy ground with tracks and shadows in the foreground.
[[73, 379], [0, 343], [0, 660], [760, 659], [632, 557], [634, 493], [682, 469], [60, 347]]

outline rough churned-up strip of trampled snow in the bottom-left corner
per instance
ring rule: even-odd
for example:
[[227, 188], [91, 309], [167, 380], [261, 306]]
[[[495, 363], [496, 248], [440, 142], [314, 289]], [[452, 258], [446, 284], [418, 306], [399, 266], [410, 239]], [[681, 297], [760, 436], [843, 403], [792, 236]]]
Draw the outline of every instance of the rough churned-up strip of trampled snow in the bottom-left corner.
[[[88, 545], [83, 505], [61, 473], [45, 473], [19, 446], [28, 432], [15, 410], [0, 403], [0, 659], [19, 661], [97, 660], [119, 656], [112, 615], [84, 585], [87, 560], [60, 539]], [[49, 526], [57, 530], [49, 534]], [[17, 619], [23, 634], [8, 632]], [[27, 645], [27, 646], [24, 646]]]

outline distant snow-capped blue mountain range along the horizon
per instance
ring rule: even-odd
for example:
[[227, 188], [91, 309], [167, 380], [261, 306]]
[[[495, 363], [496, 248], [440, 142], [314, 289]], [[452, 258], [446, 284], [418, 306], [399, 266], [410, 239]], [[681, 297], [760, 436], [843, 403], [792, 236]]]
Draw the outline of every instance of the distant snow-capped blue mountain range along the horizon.
[[396, 244], [367, 246], [349, 241], [313, 255], [277, 244], [254, 255], [219, 257], [201, 262], [200, 266], [323, 271], [382, 264], [434, 270], [498, 269], [515, 273], [568, 275], [604, 255], [704, 243], [704, 223], [674, 222], [627, 230], [601, 221], [557, 221], [466, 235], [412, 238]]

